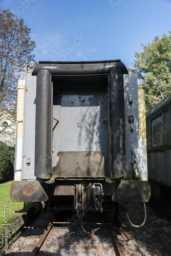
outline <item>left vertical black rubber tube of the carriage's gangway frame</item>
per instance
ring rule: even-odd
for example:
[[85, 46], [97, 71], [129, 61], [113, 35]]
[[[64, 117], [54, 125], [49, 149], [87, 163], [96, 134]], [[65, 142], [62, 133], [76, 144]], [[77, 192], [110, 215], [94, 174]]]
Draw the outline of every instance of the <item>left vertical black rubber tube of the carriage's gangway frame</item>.
[[35, 170], [41, 179], [51, 173], [51, 74], [39, 70], [36, 87]]

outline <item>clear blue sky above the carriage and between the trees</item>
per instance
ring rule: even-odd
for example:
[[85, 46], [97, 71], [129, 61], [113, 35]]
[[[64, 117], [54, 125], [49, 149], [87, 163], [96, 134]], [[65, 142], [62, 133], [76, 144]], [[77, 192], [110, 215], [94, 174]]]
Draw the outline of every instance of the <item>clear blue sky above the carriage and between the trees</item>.
[[0, 0], [31, 28], [35, 59], [121, 59], [171, 30], [171, 0]]

